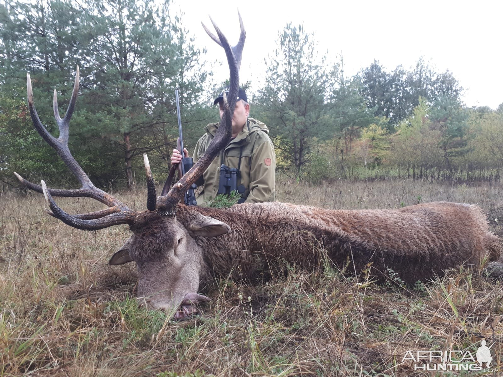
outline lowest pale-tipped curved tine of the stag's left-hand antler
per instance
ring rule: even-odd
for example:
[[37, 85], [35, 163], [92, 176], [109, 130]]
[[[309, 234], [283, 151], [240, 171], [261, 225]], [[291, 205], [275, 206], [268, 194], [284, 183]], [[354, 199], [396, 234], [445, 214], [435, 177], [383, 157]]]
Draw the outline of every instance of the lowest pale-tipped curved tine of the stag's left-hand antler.
[[[44, 193], [45, 201], [47, 202], [50, 211], [47, 212], [49, 215], [61, 220], [66, 225], [69, 225], [73, 228], [81, 229], [81, 230], [98, 230], [103, 228], [108, 228], [113, 225], [120, 224], [133, 224], [135, 218], [135, 212], [133, 211], [121, 211], [116, 213], [107, 214], [107, 216], [92, 219], [92, 220], [83, 220], [81, 217], [76, 217], [74, 215], [69, 215], [64, 212], [61, 208], [58, 207], [56, 202], [51, 197], [49, 190], [47, 190], [47, 186], [45, 182], [42, 180], [42, 191]], [[105, 210], [106, 211], [106, 210]], [[103, 212], [103, 211], [101, 211]], [[96, 214], [97, 212], [95, 212]], [[89, 215], [89, 214], [88, 214]], [[82, 215], [80, 215], [82, 216]]]

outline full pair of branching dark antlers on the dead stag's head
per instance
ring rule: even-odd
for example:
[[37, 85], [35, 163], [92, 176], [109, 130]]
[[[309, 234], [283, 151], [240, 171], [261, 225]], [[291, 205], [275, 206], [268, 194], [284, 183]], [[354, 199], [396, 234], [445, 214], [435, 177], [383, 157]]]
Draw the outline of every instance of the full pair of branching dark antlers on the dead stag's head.
[[[239, 90], [239, 66], [241, 64], [241, 54], [244, 45], [245, 32], [243, 27], [243, 22], [241, 20], [241, 15], [239, 15], [239, 25], [241, 27], [241, 34], [239, 37], [239, 42], [231, 47], [229, 42], [222, 34], [218, 26], [211, 20], [213, 27], [218, 35], [219, 40], [209, 32], [209, 30], [203, 25], [204, 29], [208, 35], [222, 46], [225, 50], [227, 56], [227, 62], [229, 64], [230, 71], [230, 85], [228, 91], [228, 98], [223, 95], [224, 102], [224, 114], [213, 141], [209, 145], [206, 153], [199, 159], [199, 161], [185, 174], [182, 179], [171, 189], [169, 193], [162, 197], [156, 197], [155, 184], [152, 178], [152, 173], [150, 171], [150, 165], [148, 163], [148, 158], [144, 155], [145, 171], [147, 175], [147, 209], [150, 211], [157, 209], [161, 215], [175, 216], [175, 208], [184, 193], [189, 189], [189, 187], [194, 183], [197, 178], [199, 178], [203, 172], [211, 164], [218, 152], [224, 148], [230, 140], [231, 130], [232, 130], [232, 115], [234, 113], [234, 108], [236, 106], [236, 98]], [[59, 137], [56, 139], [53, 137], [42, 125], [40, 121], [37, 110], [33, 104], [33, 90], [31, 86], [30, 75], [27, 74], [27, 89], [28, 89], [28, 107], [30, 109], [30, 115], [33, 121], [33, 125], [37, 129], [38, 133], [44, 138], [44, 140], [56, 151], [56, 153], [61, 157], [66, 166], [70, 171], [77, 177], [80, 184], [82, 185], [80, 189], [76, 190], [57, 190], [57, 189], [47, 189], [45, 182], [42, 181], [42, 185], [34, 184], [21, 175], [14, 172], [16, 177], [20, 182], [31, 190], [38, 193], [43, 193], [44, 197], [49, 205], [50, 210], [46, 212], [54, 216], [55, 218], [61, 220], [67, 225], [74, 228], [83, 230], [96, 230], [112, 225], [118, 224], [132, 224], [138, 212], [131, 211], [124, 203], [120, 202], [118, 199], [114, 198], [110, 194], [107, 194], [103, 190], [98, 189], [93, 182], [89, 179], [86, 173], [82, 170], [80, 165], [75, 161], [73, 156], [68, 149], [68, 126], [70, 123], [71, 115], [75, 108], [75, 102], [78, 94], [78, 80], [79, 80], [79, 70], [77, 66], [77, 72], [75, 75], [75, 83], [73, 86], [73, 92], [71, 95], [70, 103], [68, 104], [68, 109], [63, 119], [59, 116], [58, 104], [56, 98], [56, 89], [54, 89], [54, 117], [56, 118], [56, 123], [59, 127]], [[69, 215], [59, 208], [52, 196], [57, 197], [88, 197], [96, 199], [101, 203], [106, 204], [110, 208], [91, 212], [87, 214]]]

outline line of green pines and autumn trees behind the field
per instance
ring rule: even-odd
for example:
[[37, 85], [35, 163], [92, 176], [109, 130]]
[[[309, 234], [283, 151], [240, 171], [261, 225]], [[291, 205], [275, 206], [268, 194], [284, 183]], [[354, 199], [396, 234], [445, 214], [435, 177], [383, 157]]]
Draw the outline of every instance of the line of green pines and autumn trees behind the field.
[[[17, 186], [13, 171], [53, 186], [76, 184], [31, 123], [26, 73], [42, 123], [57, 136], [53, 90], [64, 114], [77, 65], [69, 138], [76, 160], [100, 187], [132, 187], [144, 179], [141, 155], [148, 153], [163, 180], [178, 136], [175, 88], [189, 150], [204, 126], [218, 121], [212, 99], [225, 83], [212, 79], [194, 34], [168, 1], [1, 4], [2, 185]], [[343, 56], [327, 61], [315, 35], [290, 24], [279, 32], [276, 50], [263, 55], [270, 56], [266, 84], [249, 93], [250, 116], [268, 125], [285, 174], [313, 182], [499, 179], [503, 104], [466, 107], [452, 72], [438, 72], [420, 57], [394, 70], [374, 61], [348, 76]]]

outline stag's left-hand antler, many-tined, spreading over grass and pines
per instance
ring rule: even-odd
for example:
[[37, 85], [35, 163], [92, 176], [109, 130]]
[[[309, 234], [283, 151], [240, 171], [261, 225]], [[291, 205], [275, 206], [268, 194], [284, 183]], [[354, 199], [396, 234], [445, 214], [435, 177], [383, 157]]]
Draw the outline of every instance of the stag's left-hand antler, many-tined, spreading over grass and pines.
[[[70, 150], [68, 149], [68, 126], [70, 124], [70, 119], [73, 114], [73, 109], [75, 108], [75, 102], [77, 99], [78, 80], [79, 70], [77, 66], [73, 92], [71, 94], [70, 103], [68, 104], [68, 109], [66, 110], [66, 114], [63, 119], [61, 119], [61, 117], [59, 116], [56, 89], [54, 89], [54, 117], [56, 118], [56, 123], [59, 127], [59, 137], [57, 139], [46, 130], [46, 128], [42, 125], [40, 118], [38, 117], [37, 110], [35, 109], [35, 105], [33, 104], [33, 90], [29, 73], [27, 74], [26, 85], [28, 91], [28, 108], [30, 109], [30, 115], [33, 121], [33, 125], [35, 126], [40, 136], [42, 136], [44, 140], [56, 151], [65, 165], [68, 166], [70, 171], [75, 175], [75, 177], [82, 185], [81, 188], [76, 190], [47, 189], [44, 181], [42, 181], [42, 185], [40, 186], [24, 179], [16, 172], [14, 172], [14, 174], [23, 185], [31, 190], [44, 194], [49, 208], [51, 209], [50, 211], [46, 210], [49, 215], [61, 220], [71, 227], [83, 230], [96, 230], [107, 228], [112, 225], [132, 224], [137, 212], [131, 211], [124, 203], [114, 198], [112, 195], [98, 189], [98, 187], [96, 187], [93, 182], [91, 182], [91, 180], [82, 170], [77, 161], [75, 161], [75, 158], [73, 158]], [[106, 204], [110, 208], [87, 214], [69, 215], [56, 205], [56, 203], [52, 199], [52, 196], [73, 198], [88, 197], [96, 199], [97, 201]]]

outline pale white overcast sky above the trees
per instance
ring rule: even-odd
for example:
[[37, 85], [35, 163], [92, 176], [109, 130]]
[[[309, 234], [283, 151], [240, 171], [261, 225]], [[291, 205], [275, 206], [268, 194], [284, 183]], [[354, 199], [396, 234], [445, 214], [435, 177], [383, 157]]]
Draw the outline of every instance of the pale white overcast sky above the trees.
[[[465, 89], [467, 106], [495, 109], [503, 103], [501, 0], [172, 3], [174, 11], [184, 13], [183, 23], [196, 46], [207, 48], [208, 60], [218, 61], [225, 61], [224, 52], [206, 35], [201, 21], [210, 27], [211, 15], [234, 45], [239, 38], [238, 7], [246, 30], [240, 80], [251, 80], [252, 90], [264, 82], [264, 58], [271, 56], [278, 32], [291, 22], [315, 33], [320, 53], [328, 51], [327, 62], [342, 52], [350, 75], [374, 59], [392, 70], [399, 64], [408, 69], [424, 56], [437, 71], [454, 74]], [[215, 67], [214, 73], [217, 82], [229, 76], [226, 65]]]

